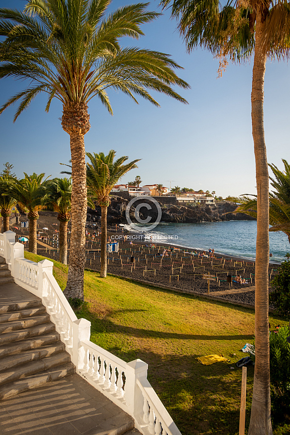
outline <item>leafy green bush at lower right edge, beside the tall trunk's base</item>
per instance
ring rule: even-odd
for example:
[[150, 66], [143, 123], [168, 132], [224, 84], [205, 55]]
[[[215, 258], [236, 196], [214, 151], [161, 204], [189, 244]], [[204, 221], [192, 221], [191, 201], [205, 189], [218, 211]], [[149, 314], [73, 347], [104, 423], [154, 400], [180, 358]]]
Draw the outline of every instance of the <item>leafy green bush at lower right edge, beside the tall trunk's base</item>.
[[270, 334], [270, 377], [272, 421], [290, 423], [290, 335], [288, 326]]

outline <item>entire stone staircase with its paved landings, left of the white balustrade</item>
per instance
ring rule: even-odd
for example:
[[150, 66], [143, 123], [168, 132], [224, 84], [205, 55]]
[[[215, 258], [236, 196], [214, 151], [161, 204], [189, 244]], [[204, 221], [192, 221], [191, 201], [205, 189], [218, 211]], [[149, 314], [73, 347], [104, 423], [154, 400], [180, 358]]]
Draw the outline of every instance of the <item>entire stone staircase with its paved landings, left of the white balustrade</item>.
[[0, 257], [0, 434], [141, 435], [75, 372], [41, 299]]

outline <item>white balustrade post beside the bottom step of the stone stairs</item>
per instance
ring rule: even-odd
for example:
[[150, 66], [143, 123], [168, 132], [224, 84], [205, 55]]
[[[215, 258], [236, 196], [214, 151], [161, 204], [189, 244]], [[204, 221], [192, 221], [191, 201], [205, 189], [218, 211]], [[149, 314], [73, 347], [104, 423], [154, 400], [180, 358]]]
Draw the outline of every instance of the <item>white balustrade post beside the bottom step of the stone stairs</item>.
[[85, 349], [81, 345], [82, 341], [91, 338], [91, 322], [87, 319], [78, 319], [73, 322], [73, 343], [72, 343], [72, 363], [77, 367], [77, 370], [82, 370], [84, 367]]

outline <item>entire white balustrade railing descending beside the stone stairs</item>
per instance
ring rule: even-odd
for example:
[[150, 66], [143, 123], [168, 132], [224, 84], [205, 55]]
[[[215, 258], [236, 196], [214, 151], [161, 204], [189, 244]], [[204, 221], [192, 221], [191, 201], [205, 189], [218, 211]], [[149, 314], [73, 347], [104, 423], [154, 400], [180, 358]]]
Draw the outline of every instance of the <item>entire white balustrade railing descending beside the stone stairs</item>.
[[126, 363], [90, 341], [91, 322], [77, 319], [53, 277], [52, 261], [26, 260], [12, 231], [0, 233], [0, 256], [15, 283], [41, 298], [80, 376], [130, 414], [143, 435], [181, 435], [147, 380], [147, 364]]

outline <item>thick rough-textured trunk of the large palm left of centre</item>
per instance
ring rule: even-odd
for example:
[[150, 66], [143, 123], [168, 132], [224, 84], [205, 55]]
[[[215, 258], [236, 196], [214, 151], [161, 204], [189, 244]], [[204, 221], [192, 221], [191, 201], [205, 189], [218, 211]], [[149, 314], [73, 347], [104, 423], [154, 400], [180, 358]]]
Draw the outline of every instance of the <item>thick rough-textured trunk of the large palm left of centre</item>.
[[84, 300], [84, 269], [87, 220], [87, 168], [84, 135], [90, 130], [88, 106], [70, 103], [63, 106], [62, 128], [70, 135], [72, 194], [71, 243], [64, 294]]

